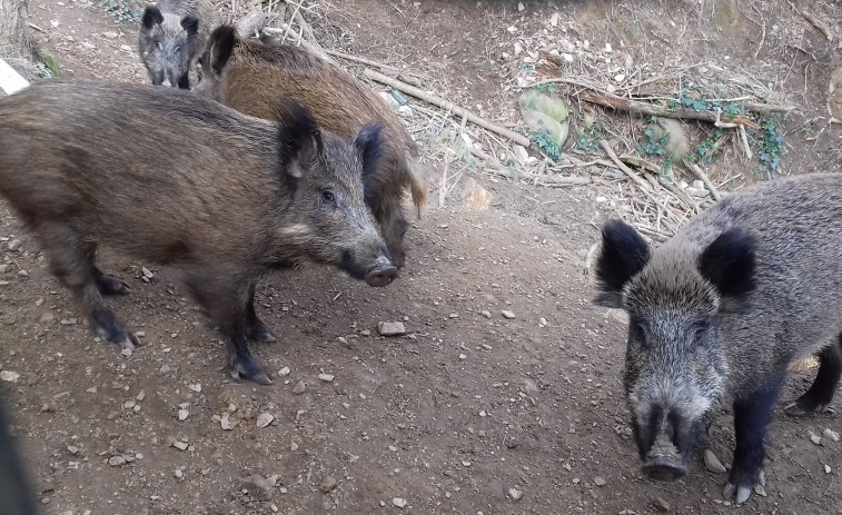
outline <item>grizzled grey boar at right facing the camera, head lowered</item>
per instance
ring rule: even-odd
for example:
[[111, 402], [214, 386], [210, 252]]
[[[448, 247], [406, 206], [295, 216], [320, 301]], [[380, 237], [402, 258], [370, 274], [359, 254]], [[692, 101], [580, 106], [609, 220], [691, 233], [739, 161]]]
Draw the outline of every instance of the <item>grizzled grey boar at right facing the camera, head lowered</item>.
[[842, 174], [732, 195], [657, 248], [603, 228], [596, 303], [630, 318], [624, 383], [643, 471], [674, 481], [709, 417], [733, 403], [725, 498], [764, 484], [763, 438], [787, 366], [818, 355], [786, 413], [828, 409], [842, 373]]

